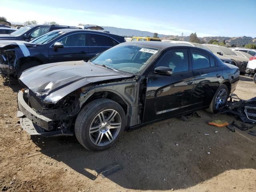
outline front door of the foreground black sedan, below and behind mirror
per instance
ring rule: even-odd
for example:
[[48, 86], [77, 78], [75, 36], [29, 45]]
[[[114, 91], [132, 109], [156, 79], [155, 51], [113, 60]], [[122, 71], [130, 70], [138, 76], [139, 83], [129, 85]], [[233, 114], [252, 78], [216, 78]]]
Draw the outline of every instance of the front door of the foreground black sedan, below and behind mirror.
[[[143, 122], [180, 114], [193, 108], [194, 76], [189, 51], [166, 52], [155, 67], [173, 70], [171, 76], [151, 72], [147, 76], [146, 103]], [[154, 67], [154, 68], [155, 68]]]

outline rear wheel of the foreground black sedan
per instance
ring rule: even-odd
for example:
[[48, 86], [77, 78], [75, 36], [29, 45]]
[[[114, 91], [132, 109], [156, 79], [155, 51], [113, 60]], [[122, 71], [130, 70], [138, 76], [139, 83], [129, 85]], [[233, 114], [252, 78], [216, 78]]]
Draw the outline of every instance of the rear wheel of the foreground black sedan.
[[212, 98], [212, 102], [206, 111], [210, 113], [216, 113], [220, 111], [227, 103], [228, 100], [228, 87], [224, 84], [220, 85], [218, 90], [216, 91], [214, 97]]

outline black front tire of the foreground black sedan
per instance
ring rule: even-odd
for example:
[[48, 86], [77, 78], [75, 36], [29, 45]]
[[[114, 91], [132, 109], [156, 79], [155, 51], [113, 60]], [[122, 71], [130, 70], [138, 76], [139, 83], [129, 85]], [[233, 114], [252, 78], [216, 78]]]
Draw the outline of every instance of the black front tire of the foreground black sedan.
[[[118, 113], [118, 118], [120, 117], [119, 119], [121, 121], [120, 122], [121, 126], [120, 126], [120, 129], [118, 129], [119, 132], [115, 134], [116, 136], [112, 141], [109, 140], [109, 135], [107, 136], [106, 132], [104, 134], [102, 133], [102, 129], [100, 130], [100, 127], [96, 128], [98, 129], [98, 131], [95, 132], [95, 134], [97, 134], [98, 136], [95, 136], [95, 138], [96, 137], [99, 138], [100, 135], [102, 134], [105, 139], [108, 138], [109, 141], [107, 142], [110, 142], [109, 144], [106, 144], [104, 146], [99, 146], [97, 145], [97, 141], [98, 141], [97, 139], [96, 139], [97, 140], [96, 144], [95, 142], [92, 141], [93, 140], [92, 136], [94, 133], [93, 134], [90, 133], [90, 128], [94, 123], [94, 120], [98, 118], [98, 114], [100, 114], [100, 112], [105, 112], [106, 110], [113, 110]], [[100, 124], [98, 120], [98, 125], [96, 126], [101, 126], [101, 128], [103, 128], [102, 124]], [[120, 136], [122, 135], [122, 132], [124, 132], [125, 124], [126, 124], [126, 116], [125, 116], [124, 110], [117, 102], [114, 102], [113, 100], [110, 100], [110, 99], [96, 99], [88, 103], [86, 106], [84, 106], [82, 110], [79, 112], [76, 118], [74, 129], [75, 129], [76, 138], [82, 146], [84, 146], [86, 149], [91, 151], [102, 151], [110, 148], [120, 138]], [[111, 123], [109, 126], [111, 127]], [[104, 126], [104, 128], [106, 128], [106, 126]], [[115, 129], [111, 129], [111, 130], [115, 131]]]

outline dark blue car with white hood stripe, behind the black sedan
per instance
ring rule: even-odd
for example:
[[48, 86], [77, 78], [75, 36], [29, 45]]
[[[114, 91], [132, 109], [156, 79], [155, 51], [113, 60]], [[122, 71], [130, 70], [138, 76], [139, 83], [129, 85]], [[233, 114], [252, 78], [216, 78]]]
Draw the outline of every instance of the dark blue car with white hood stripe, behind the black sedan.
[[122, 42], [122, 36], [82, 29], [54, 30], [30, 42], [0, 40], [0, 70], [20, 77], [24, 70], [41, 64], [89, 60]]

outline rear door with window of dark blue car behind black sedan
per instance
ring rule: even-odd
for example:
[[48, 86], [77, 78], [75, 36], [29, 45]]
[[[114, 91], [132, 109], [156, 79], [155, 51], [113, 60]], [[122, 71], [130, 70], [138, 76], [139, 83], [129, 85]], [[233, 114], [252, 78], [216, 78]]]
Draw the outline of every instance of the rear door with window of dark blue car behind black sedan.
[[113, 38], [103, 34], [87, 33], [86, 44], [88, 46], [88, 59], [90, 59], [96, 54], [101, 53], [119, 43]]

